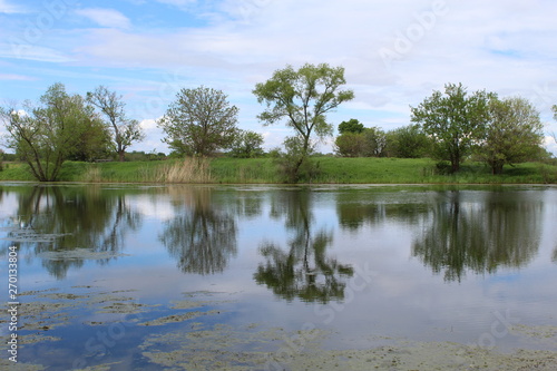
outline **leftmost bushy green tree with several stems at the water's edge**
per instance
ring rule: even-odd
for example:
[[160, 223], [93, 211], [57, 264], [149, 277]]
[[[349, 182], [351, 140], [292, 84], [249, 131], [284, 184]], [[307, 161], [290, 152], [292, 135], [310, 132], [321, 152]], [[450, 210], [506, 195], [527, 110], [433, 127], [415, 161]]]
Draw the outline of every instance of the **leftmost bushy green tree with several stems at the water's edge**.
[[8, 147], [28, 165], [41, 182], [56, 180], [65, 160], [75, 155], [82, 138], [95, 136], [98, 120], [94, 108], [79, 95], [69, 95], [55, 84], [39, 104], [0, 109], [9, 134]]

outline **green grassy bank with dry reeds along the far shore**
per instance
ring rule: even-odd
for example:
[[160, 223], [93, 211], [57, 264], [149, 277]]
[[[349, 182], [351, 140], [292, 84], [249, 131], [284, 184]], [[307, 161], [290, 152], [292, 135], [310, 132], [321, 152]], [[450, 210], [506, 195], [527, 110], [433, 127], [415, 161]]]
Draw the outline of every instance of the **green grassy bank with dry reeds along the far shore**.
[[[439, 174], [428, 158], [314, 157], [317, 170], [304, 184], [555, 184], [557, 166], [525, 163], [492, 175], [481, 163], [465, 163], [455, 175]], [[0, 180], [35, 182], [25, 164], [4, 164]], [[89, 164], [67, 162], [59, 182], [158, 184], [284, 184], [272, 158], [168, 159]]]

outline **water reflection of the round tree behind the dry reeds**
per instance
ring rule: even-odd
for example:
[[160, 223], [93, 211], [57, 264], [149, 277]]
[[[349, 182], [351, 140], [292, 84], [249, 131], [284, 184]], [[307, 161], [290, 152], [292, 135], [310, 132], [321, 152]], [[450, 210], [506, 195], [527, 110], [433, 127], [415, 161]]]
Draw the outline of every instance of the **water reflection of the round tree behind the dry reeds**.
[[223, 272], [236, 254], [236, 222], [213, 202], [209, 187], [169, 187], [177, 216], [166, 222], [160, 242], [184, 273]]

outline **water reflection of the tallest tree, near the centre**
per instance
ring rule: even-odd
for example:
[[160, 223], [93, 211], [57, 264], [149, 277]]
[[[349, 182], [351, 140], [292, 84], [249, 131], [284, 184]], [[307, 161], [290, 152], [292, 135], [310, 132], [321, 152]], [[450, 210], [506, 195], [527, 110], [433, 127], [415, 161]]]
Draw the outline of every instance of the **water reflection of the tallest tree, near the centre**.
[[326, 256], [333, 235], [324, 228], [313, 232], [311, 197], [306, 189], [273, 194], [271, 215], [284, 216], [285, 226], [294, 236], [287, 251], [272, 242], [261, 244], [260, 252], [266, 263], [258, 265], [254, 280], [287, 301], [294, 297], [305, 302], [341, 301], [353, 269]]

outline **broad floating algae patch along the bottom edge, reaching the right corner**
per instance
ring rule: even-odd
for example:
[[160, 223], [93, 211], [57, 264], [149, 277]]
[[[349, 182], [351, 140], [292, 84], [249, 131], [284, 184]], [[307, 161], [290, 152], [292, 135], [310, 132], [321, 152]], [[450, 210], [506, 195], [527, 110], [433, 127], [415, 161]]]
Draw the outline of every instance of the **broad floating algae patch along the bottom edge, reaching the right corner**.
[[153, 334], [141, 354], [173, 370], [555, 370], [557, 353], [500, 353], [452, 342], [398, 341], [389, 346], [328, 350], [330, 332], [251, 324]]

